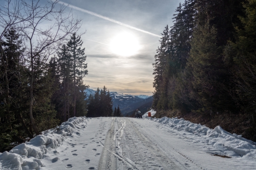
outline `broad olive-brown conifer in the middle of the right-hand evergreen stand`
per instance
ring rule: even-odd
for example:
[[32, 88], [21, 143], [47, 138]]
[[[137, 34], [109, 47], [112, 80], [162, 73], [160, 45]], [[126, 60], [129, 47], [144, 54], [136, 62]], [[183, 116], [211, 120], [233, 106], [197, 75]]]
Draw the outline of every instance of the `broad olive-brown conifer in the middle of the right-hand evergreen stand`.
[[217, 45], [217, 29], [210, 26], [209, 20], [206, 18], [204, 25], [199, 23], [194, 30], [187, 70], [193, 75], [193, 99], [203, 111], [212, 113], [229, 110], [234, 103], [226, 90], [228, 71]]

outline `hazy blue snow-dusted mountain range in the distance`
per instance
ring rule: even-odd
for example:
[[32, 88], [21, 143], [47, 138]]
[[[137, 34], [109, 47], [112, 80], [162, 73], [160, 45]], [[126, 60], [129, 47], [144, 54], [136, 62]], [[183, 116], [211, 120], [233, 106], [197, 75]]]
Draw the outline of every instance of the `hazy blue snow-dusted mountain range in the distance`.
[[[86, 89], [87, 98], [90, 94], [94, 94], [96, 90]], [[131, 115], [136, 109], [139, 109], [142, 113], [151, 108], [153, 103], [153, 97], [148, 95], [131, 95], [131, 94], [119, 94], [117, 92], [110, 92], [113, 102], [113, 109], [118, 107], [123, 115]]]

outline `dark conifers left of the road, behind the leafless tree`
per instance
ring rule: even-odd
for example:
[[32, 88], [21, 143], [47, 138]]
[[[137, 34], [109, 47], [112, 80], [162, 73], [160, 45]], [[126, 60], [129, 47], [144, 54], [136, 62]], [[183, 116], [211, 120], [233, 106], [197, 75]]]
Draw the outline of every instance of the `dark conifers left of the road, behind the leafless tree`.
[[[52, 57], [49, 62], [41, 60], [40, 54], [33, 58], [32, 113], [38, 133], [70, 117], [87, 114], [84, 99], [88, 86], [83, 84], [82, 78], [88, 71], [81, 43], [80, 36], [74, 33], [67, 45], [59, 49], [58, 58]], [[22, 39], [11, 28], [4, 34], [1, 44], [0, 149], [4, 151], [13, 147], [10, 143], [24, 142], [37, 133], [30, 121], [31, 69], [24, 56]]]

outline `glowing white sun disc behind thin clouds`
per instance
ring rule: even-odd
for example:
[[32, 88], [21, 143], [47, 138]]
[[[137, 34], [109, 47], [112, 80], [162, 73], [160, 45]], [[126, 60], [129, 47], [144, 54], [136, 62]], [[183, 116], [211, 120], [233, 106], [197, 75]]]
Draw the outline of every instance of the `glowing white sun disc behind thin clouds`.
[[110, 48], [111, 51], [117, 55], [132, 56], [138, 52], [140, 45], [134, 35], [124, 32], [112, 39]]

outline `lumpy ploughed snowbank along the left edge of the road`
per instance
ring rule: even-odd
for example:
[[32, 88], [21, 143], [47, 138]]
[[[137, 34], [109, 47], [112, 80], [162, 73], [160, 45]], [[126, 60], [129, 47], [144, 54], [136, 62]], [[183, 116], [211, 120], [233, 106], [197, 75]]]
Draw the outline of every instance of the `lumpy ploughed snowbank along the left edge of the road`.
[[72, 136], [74, 131], [85, 128], [88, 120], [85, 116], [69, 118], [56, 129], [48, 130], [44, 135], [38, 135], [29, 142], [19, 144], [10, 152], [0, 153], [0, 169], [38, 170], [44, 167], [40, 159], [50, 150], [59, 147], [66, 136]]

